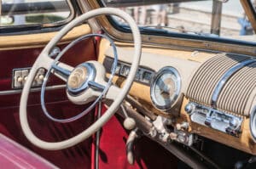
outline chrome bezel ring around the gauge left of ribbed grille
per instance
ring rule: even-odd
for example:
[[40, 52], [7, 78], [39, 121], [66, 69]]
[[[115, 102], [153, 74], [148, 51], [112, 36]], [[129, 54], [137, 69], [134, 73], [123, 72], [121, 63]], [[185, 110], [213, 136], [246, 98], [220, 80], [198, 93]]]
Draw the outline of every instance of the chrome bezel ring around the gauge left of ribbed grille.
[[[166, 104], [166, 105], [159, 105], [157, 104], [157, 102], [155, 101], [155, 95], [154, 95], [154, 88], [155, 88], [155, 85], [156, 85], [156, 82], [157, 80], [160, 78], [160, 76], [163, 76], [164, 74], [166, 73], [171, 73], [173, 74], [174, 76], [176, 76], [177, 78], [177, 90], [176, 92], [174, 93], [174, 97], [173, 99], [171, 100], [171, 103], [170, 104]], [[159, 109], [159, 110], [170, 110], [173, 106], [173, 104], [176, 103], [177, 99], [178, 99], [178, 96], [180, 94], [180, 91], [181, 91], [181, 77], [177, 71], [177, 69], [175, 69], [174, 67], [172, 66], [166, 66], [166, 67], [163, 67], [162, 69], [160, 69], [155, 75], [154, 75], [154, 78], [153, 78], [153, 81], [151, 82], [151, 85], [150, 85], [150, 98], [151, 98], [151, 101], [152, 103], [154, 104], [154, 107]]]

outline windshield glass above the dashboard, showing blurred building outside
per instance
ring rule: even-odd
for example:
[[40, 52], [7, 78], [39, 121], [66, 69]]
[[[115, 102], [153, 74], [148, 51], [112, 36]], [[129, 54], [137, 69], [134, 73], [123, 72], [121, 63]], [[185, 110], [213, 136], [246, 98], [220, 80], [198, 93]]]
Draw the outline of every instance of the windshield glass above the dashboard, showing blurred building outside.
[[[129, 3], [131, 1], [131, 3]], [[107, 6], [121, 8], [147, 31], [177, 32], [202, 37], [220, 37], [256, 42], [255, 32], [240, 1], [186, 1], [184, 3], [140, 3], [135, 0], [104, 0]], [[159, 1], [163, 2], [163, 1]], [[253, 3], [255, 1], [253, 0]], [[256, 4], [256, 3], [255, 3]], [[119, 25], [123, 20], [113, 17]]]

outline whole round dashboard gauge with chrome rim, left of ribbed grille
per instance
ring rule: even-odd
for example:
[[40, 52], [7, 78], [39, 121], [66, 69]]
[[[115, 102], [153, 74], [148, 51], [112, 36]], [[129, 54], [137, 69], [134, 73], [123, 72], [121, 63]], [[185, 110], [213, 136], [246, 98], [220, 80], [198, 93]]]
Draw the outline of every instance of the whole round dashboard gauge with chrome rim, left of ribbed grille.
[[172, 108], [180, 93], [181, 79], [173, 67], [164, 67], [154, 76], [150, 95], [153, 104], [160, 110]]

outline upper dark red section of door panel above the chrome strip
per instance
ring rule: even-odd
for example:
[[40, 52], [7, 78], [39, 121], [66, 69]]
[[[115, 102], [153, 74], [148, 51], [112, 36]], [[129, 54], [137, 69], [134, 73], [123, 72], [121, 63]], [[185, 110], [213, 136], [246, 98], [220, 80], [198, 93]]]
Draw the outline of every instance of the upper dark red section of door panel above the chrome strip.
[[[62, 44], [59, 47], [64, 48], [65, 45]], [[26, 48], [0, 51], [0, 66], [2, 68], [0, 71], [0, 95], [5, 95], [4, 93], [21, 92], [20, 90], [14, 91], [12, 88], [13, 70], [32, 67], [42, 50], [43, 48]], [[93, 59], [96, 59], [96, 52], [93, 39], [90, 38], [79, 42], [79, 44], [68, 50], [61, 61], [68, 65], [75, 66]], [[57, 79], [55, 76], [50, 76], [48, 86], [56, 84], [64, 84], [64, 82], [61, 82], [61, 80]], [[4, 97], [0, 96], [2, 107], [4, 107], [4, 100], [1, 100], [3, 98]], [[12, 104], [19, 104], [15, 100], [11, 102]]]

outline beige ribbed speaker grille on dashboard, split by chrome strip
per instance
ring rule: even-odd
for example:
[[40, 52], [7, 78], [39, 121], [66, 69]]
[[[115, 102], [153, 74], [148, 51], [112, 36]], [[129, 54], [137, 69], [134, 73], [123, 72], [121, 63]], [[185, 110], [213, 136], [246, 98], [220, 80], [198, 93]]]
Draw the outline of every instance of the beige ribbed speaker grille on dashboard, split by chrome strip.
[[[212, 94], [224, 74], [247, 59], [250, 58], [233, 54], [218, 54], [212, 59], [208, 59], [192, 77], [187, 96], [197, 103], [211, 106]], [[218, 95], [216, 108], [248, 115], [248, 112], [244, 110], [255, 85], [256, 64], [253, 62], [230, 76]]]

